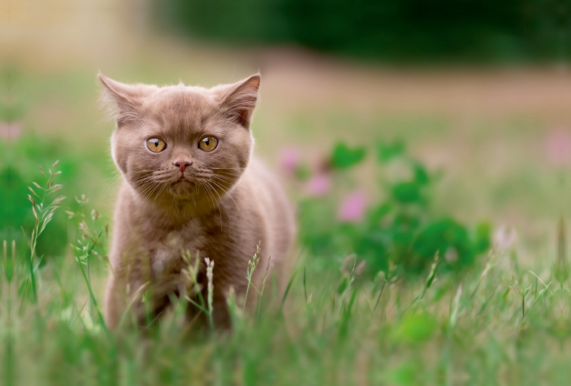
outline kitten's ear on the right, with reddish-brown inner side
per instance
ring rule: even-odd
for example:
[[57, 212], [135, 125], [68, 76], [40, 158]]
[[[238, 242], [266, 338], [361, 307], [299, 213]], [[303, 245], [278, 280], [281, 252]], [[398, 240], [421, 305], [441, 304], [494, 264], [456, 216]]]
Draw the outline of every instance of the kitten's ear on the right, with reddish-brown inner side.
[[260, 74], [252, 75], [250, 78], [233, 85], [233, 89], [223, 102], [223, 109], [228, 117], [249, 128], [256, 101], [258, 100], [258, 88], [260, 88]]

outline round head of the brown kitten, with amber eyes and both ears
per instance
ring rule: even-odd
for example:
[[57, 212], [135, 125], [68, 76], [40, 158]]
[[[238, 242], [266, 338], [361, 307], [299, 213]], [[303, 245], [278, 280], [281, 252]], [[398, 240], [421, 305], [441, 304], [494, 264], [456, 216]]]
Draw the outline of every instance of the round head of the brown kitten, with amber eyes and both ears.
[[260, 75], [211, 89], [99, 78], [118, 108], [113, 161], [141, 197], [213, 203], [232, 189], [253, 150]]

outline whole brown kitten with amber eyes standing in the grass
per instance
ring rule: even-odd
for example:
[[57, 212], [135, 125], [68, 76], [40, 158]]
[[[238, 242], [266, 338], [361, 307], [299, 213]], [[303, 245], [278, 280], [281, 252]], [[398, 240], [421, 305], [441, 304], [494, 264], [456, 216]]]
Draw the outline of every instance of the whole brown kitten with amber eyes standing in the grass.
[[[243, 298], [258, 242], [253, 283], [261, 288], [269, 256], [280, 281], [295, 233], [283, 190], [252, 156], [260, 75], [210, 89], [126, 85], [101, 74], [99, 79], [103, 99], [116, 107], [111, 155], [123, 179], [109, 258], [108, 327], [116, 328], [128, 310], [146, 325], [143, 293], [150, 294], [151, 318], [184, 294], [191, 284], [183, 272], [186, 251], [214, 261], [213, 320], [228, 327], [226, 296], [232, 287]], [[189, 305], [189, 317], [194, 315], [198, 311]]]

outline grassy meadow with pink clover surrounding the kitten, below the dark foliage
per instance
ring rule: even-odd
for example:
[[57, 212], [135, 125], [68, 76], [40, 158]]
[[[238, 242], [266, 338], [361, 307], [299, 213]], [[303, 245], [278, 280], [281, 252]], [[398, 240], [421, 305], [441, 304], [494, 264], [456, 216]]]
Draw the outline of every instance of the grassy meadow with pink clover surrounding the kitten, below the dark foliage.
[[253, 131], [298, 210], [288, 291], [279, 297], [269, 275], [253, 314], [229, 298], [231, 332], [189, 331], [184, 299], [160, 323], [108, 330], [118, 176], [96, 68], [6, 66], [4, 385], [568, 381], [567, 75], [161, 47], [159, 58], [130, 52], [101, 70], [214, 85], [256, 71], [231, 58], [265, 63]]

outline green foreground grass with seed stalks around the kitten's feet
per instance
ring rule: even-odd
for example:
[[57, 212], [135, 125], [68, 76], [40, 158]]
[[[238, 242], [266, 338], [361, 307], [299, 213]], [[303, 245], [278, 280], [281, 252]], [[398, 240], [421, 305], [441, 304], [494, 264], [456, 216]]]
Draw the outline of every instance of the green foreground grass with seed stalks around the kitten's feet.
[[[160, 323], [151, 320], [143, 330], [107, 330], [92, 288], [106, 271], [106, 224], [88, 199], [78, 198], [81, 210], [69, 212], [69, 221], [79, 219], [75, 222], [83, 235], [74, 244], [75, 256], [42, 261], [34, 249], [51, 215], [61, 210], [64, 197], [49, 199], [60, 188], [54, 181], [58, 174], [50, 169], [45, 187], [34, 184], [31, 201], [38, 220], [29, 241], [4, 241], [4, 385], [524, 385], [567, 380], [565, 251], [553, 271], [549, 261], [540, 271], [530, 271], [514, 249], [492, 248], [464, 273], [440, 274], [437, 254], [425, 278], [394, 277], [389, 264], [373, 280], [360, 273], [358, 256], [323, 268], [302, 254], [283, 299], [261, 288], [266, 300], [273, 299], [252, 314], [243, 313], [233, 296], [228, 299], [231, 333], [189, 332], [183, 309], [193, 305], [185, 298]], [[564, 231], [559, 237], [562, 249]], [[246, 276], [256, 259], [244, 267]], [[216, 266], [210, 267], [216, 275]], [[210, 298], [196, 306], [211, 315]]]

